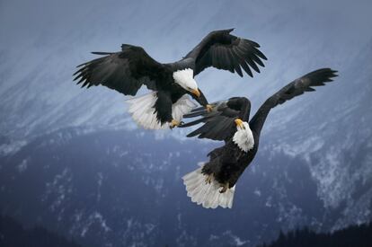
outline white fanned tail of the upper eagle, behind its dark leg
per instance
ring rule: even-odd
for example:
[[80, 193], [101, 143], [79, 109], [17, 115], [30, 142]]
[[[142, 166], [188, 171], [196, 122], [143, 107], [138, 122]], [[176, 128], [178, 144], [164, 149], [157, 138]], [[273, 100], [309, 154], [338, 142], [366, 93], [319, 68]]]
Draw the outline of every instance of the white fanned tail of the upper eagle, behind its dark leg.
[[[155, 114], [155, 101], [157, 100], [156, 92], [147, 93], [143, 96], [128, 99], [128, 112], [139, 126], [149, 129], [169, 128], [167, 123], [163, 125], [157, 120]], [[196, 104], [190, 101], [188, 95], [183, 95], [172, 106], [173, 119], [181, 121], [182, 116], [190, 112]]]

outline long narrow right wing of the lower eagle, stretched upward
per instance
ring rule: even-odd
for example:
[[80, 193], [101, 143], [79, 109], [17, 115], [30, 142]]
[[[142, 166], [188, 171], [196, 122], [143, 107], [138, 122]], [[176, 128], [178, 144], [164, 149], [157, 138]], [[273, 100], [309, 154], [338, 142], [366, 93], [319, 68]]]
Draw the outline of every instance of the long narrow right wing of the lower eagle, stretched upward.
[[252, 131], [256, 131], [257, 134], [261, 133], [261, 128], [272, 108], [305, 92], [315, 91], [313, 88], [314, 86], [322, 86], [325, 83], [332, 82], [332, 77], [337, 76], [335, 73], [337, 73], [337, 71], [332, 70], [331, 68], [321, 68], [303, 75], [280, 89], [277, 93], [273, 94], [268, 100], [266, 100], [259, 110], [257, 110], [256, 114], [249, 122]]

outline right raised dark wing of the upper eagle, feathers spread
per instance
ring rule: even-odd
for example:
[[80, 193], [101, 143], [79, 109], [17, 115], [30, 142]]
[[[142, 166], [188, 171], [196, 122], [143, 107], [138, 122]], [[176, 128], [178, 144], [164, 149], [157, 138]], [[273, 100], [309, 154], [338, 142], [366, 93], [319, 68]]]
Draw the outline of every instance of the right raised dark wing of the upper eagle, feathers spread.
[[258, 49], [260, 45], [252, 40], [231, 35], [233, 30], [211, 31], [186, 55], [185, 58], [195, 59], [194, 75], [209, 66], [232, 73], [236, 71], [240, 76], [243, 76], [242, 68], [251, 76], [252, 69], [260, 73], [259, 66], [264, 66], [261, 59], [267, 59]]

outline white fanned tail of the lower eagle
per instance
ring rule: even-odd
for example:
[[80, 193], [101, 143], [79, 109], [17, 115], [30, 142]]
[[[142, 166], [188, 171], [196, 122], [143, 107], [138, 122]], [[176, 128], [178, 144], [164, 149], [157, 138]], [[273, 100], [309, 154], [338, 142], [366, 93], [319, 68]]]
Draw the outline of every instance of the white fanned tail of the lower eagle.
[[203, 174], [201, 170], [202, 167], [182, 177], [191, 201], [206, 208], [233, 207], [235, 186], [221, 193], [220, 183], [214, 179], [210, 182], [206, 181], [207, 175]]

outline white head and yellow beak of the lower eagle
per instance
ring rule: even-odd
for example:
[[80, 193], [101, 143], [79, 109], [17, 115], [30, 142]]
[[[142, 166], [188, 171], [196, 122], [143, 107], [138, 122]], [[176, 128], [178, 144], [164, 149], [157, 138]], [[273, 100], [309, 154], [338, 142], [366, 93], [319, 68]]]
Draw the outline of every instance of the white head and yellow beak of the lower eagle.
[[251, 128], [247, 122], [241, 119], [235, 119], [236, 132], [233, 137], [233, 142], [239, 146], [244, 152], [248, 152], [254, 146], [254, 138]]

